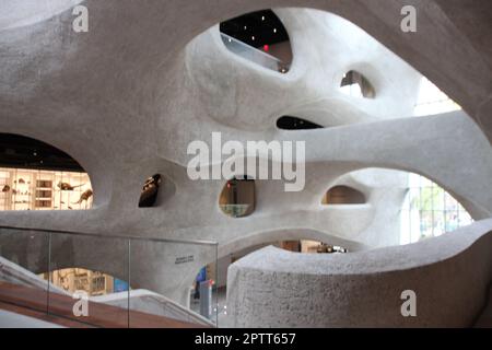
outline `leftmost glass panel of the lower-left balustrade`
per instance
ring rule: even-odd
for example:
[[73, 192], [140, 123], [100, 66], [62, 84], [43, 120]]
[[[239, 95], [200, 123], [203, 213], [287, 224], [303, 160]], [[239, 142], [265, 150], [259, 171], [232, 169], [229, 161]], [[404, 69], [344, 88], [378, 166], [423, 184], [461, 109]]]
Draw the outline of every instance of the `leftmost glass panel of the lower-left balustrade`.
[[0, 229], [0, 302], [46, 312], [49, 234]]

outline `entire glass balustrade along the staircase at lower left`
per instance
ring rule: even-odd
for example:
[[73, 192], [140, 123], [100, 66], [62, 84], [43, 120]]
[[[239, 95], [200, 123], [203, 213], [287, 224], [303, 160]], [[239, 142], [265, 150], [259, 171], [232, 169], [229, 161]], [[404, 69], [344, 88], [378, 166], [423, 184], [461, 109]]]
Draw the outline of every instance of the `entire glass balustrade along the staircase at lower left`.
[[[0, 226], [0, 308], [69, 327], [218, 327], [216, 259], [214, 242]], [[197, 281], [200, 261], [212, 268]]]

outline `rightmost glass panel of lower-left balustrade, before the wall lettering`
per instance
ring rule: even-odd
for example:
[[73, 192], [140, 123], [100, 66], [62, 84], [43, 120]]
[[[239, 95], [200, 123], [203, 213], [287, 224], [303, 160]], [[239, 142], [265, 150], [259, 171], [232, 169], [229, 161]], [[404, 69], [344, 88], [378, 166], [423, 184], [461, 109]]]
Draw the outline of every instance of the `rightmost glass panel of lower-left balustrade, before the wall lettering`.
[[215, 326], [216, 254], [216, 244], [132, 240], [130, 327]]

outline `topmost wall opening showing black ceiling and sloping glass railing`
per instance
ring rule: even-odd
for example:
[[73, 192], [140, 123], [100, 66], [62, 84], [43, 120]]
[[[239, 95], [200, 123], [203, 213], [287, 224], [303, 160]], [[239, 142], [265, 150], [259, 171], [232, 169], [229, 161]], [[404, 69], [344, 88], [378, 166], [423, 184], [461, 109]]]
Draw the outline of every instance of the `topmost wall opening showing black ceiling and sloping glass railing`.
[[292, 62], [289, 34], [271, 10], [221, 22], [221, 38], [232, 52], [265, 68], [286, 73]]

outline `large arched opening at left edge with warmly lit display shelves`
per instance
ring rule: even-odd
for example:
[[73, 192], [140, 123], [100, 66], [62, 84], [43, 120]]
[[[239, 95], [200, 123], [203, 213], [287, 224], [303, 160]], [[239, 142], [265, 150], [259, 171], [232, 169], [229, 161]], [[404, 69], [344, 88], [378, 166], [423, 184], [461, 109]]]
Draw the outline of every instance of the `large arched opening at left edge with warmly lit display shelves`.
[[0, 133], [0, 211], [90, 209], [89, 175], [67, 153], [45, 142]]

